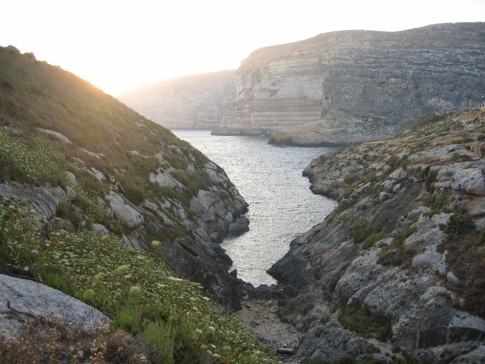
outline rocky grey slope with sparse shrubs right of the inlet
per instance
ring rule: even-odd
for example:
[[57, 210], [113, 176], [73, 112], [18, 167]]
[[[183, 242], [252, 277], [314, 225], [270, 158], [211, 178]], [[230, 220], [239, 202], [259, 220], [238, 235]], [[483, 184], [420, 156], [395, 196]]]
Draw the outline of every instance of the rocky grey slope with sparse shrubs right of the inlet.
[[268, 271], [300, 355], [483, 362], [485, 112], [450, 116], [305, 168], [339, 206]]

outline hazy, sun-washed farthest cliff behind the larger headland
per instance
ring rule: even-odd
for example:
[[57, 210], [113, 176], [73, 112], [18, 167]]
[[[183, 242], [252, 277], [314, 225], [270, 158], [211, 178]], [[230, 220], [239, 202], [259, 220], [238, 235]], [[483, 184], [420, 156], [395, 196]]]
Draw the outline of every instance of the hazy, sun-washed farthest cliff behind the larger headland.
[[117, 97], [167, 128], [218, 128], [232, 119], [234, 80], [234, 70], [202, 73], [152, 83]]

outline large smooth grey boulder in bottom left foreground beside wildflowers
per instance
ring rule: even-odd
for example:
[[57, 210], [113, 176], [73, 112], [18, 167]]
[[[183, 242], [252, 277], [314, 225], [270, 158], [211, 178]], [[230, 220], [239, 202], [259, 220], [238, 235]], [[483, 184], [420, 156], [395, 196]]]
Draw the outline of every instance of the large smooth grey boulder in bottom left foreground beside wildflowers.
[[[11, 308], [7, 306], [7, 302]], [[14, 311], [16, 310], [16, 311]], [[78, 324], [84, 328], [102, 326], [110, 319], [76, 298], [44, 284], [0, 274], [0, 336], [14, 336], [25, 312], [44, 319]]]

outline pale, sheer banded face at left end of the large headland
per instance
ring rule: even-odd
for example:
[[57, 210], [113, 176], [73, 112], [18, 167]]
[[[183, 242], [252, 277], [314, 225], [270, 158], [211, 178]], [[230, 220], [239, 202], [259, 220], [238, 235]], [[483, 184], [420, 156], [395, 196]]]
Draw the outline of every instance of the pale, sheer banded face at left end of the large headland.
[[[278, 48], [276, 48], [278, 47]], [[283, 129], [322, 115], [321, 60], [316, 54], [287, 57], [284, 46], [253, 52], [236, 71], [231, 126]]]

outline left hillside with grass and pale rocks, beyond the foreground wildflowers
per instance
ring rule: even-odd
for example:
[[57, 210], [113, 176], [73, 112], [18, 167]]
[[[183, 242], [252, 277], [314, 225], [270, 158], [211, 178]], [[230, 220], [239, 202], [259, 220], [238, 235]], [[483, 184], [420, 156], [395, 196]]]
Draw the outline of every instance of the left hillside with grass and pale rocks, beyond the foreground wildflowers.
[[0, 49], [0, 123], [1, 193], [27, 200], [43, 191], [37, 187], [61, 186], [40, 214], [49, 226], [107, 228], [141, 249], [159, 240], [176, 272], [232, 297], [225, 286], [237, 280], [227, 275], [231, 260], [217, 243], [247, 204], [201, 152], [92, 84], [12, 46]]

